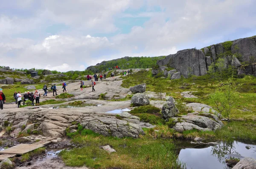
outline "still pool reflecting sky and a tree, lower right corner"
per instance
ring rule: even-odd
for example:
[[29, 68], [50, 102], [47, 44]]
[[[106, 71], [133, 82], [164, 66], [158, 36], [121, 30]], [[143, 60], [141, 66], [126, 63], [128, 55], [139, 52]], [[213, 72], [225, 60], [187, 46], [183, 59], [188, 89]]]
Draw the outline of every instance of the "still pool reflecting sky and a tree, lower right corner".
[[[252, 148], [246, 149], [245, 146]], [[192, 145], [186, 143], [190, 148], [178, 149], [178, 159], [186, 163], [186, 169], [231, 169], [225, 163], [229, 157], [256, 158], [256, 145], [244, 144], [238, 141], [221, 142], [217, 146], [191, 148]]]

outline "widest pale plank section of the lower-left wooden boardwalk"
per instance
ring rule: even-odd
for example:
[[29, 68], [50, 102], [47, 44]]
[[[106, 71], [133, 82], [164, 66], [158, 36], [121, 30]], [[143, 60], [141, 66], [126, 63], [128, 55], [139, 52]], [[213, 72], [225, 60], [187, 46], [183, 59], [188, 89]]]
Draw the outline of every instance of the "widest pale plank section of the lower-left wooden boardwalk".
[[40, 147], [43, 147], [44, 145], [41, 144], [18, 144], [17, 146], [13, 146], [9, 149], [5, 149], [3, 151], [0, 151], [0, 154], [17, 154], [17, 155], [23, 155], [26, 152], [30, 152], [34, 149], [38, 149]]

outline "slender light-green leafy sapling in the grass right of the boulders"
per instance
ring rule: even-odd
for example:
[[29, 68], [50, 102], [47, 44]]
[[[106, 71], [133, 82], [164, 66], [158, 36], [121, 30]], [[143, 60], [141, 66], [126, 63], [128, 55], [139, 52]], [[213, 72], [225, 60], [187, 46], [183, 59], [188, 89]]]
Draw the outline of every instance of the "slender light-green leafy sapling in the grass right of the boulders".
[[233, 76], [224, 82], [220, 90], [210, 95], [213, 107], [224, 116], [230, 119], [231, 110], [236, 106], [239, 95], [237, 90], [242, 84], [236, 85], [233, 82]]

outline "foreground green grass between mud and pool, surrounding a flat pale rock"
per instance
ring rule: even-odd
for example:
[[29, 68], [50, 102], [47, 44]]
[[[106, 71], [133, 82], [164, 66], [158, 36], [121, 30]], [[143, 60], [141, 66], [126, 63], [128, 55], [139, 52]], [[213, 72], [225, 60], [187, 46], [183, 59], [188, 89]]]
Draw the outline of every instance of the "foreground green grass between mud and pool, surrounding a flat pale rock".
[[[73, 138], [80, 148], [64, 150], [60, 156], [67, 166], [84, 166], [95, 169], [180, 169], [177, 162], [175, 145], [172, 140], [152, 138], [115, 138], [105, 137], [83, 130]], [[108, 154], [100, 146], [110, 145], [116, 152]]]

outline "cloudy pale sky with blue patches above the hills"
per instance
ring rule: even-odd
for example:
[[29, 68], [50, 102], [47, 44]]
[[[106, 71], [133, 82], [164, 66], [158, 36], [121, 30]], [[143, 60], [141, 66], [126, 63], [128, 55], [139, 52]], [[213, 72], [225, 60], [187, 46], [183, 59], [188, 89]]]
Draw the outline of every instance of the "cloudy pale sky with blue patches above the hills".
[[256, 35], [256, 0], [0, 0], [0, 65], [66, 72]]

